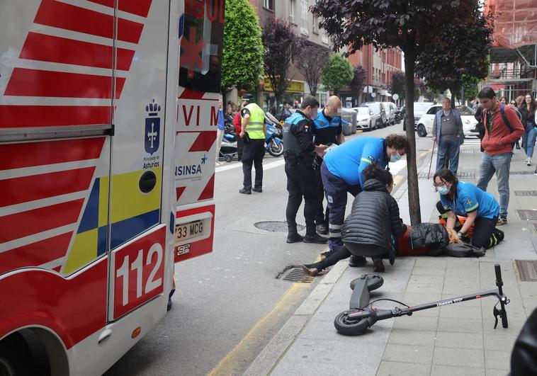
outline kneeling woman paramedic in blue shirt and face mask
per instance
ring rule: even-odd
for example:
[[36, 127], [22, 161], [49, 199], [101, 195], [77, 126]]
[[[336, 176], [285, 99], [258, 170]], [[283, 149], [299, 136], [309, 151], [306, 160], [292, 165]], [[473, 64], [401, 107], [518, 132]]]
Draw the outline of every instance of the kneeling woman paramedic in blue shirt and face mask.
[[457, 215], [468, 217], [457, 233], [461, 238], [474, 224], [472, 245], [490, 248], [492, 232], [498, 220], [499, 205], [490, 193], [477, 188], [472, 183], [458, 181], [448, 169], [441, 169], [434, 174], [434, 187], [440, 193], [443, 209], [447, 211], [446, 228], [453, 229]]

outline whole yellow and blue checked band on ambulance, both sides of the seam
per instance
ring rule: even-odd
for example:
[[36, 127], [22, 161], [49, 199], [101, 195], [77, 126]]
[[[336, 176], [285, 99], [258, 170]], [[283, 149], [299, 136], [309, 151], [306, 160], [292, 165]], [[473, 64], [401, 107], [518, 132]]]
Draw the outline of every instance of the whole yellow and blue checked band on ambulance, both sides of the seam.
[[[142, 193], [140, 176], [147, 171], [133, 171], [112, 177], [111, 239], [114, 249], [160, 222], [161, 168], [151, 169], [157, 183], [149, 193]], [[108, 223], [108, 177], [97, 178], [77, 230], [77, 236], [63, 273], [68, 274], [106, 253]]]

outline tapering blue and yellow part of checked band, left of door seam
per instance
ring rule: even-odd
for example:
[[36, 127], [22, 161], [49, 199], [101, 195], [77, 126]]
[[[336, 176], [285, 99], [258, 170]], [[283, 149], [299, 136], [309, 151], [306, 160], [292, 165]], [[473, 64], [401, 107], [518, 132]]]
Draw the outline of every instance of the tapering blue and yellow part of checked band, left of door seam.
[[69, 274], [106, 253], [108, 176], [96, 178], [62, 273]]

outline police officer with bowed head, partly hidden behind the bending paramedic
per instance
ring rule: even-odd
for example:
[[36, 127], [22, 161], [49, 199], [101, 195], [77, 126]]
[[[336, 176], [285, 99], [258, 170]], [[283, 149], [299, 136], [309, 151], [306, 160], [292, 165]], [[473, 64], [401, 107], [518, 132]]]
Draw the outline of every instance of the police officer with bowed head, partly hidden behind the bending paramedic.
[[[345, 142], [343, 136], [342, 124], [347, 122], [341, 119], [341, 101], [337, 96], [331, 96], [328, 98], [326, 106], [317, 115], [317, 119], [313, 120], [315, 124], [315, 144], [327, 145], [342, 144]], [[315, 156], [315, 162], [318, 166], [322, 164], [322, 157]], [[317, 215], [315, 215], [315, 223], [317, 224], [315, 229], [319, 234], [328, 234], [328, 217], [329, 210], [327, 207], [326, 215], [324, 215], [324, 207], [322, 201], [324, 200], [324, 187], [322, 186], [321, 169], [316, 169], [317, 183], [319, 184], [317, 194], [319, 200], [319, 207], [317, 209]]]

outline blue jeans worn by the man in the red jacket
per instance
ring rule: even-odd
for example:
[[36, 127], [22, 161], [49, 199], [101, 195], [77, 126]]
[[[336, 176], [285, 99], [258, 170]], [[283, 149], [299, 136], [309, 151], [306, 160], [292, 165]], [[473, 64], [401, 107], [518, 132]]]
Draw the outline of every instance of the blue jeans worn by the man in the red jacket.
[[507, 218], [509, 206], [509, 169], [511, 168], [511, 153], [490, 155], [483, 153], [479, 167], [477, 186], [487, 191], [492, 175], [496, 173], [499, 193], [499, 216]]

